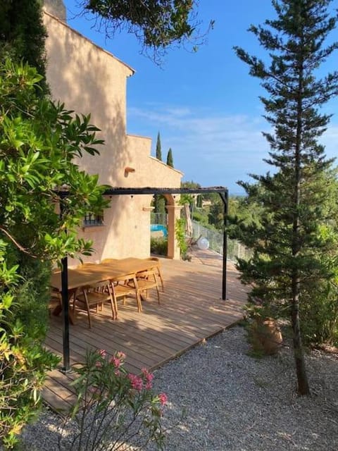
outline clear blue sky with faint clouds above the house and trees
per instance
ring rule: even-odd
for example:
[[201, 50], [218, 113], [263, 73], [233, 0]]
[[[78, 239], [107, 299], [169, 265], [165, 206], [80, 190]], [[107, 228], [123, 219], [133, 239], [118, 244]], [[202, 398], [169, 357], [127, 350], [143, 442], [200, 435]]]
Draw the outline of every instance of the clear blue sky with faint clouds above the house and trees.
[[[68, 24], [96, 44], [132, 66], [136, 73], [127, 80], [127, 132], [153, 139], [161, 134], [162, 157], [173, 149], [174, 166], [184, 173], [183, 180], [194, 180], [204, 187], [223, 185], [230, 194], [242, 194], [237, 180], [249, 180], [249, 173], [265, 173], [268, 155], [261, 132], [269, 130], [262, 118], [258, 96], [264, 94], [259, 80], [249, 76], [248, 68], [234, 54], [243, 47], [264, 56], [249, 25], [273, 18], [270, 0], [200, 0], [198, 19], [201, 30], [215, 20], [206, 43], [196, 53], [170, 49], [161, 67], [140, 54], [134, 35], [121, 33], [106, 39], [94, 23], [80, 12], [77, 0], [65, 0]], [[333, 6], [337, 7], [337, 0]], [[338, 32], [332, 32], [338, 40]], [[334, 70], [337, 54], [325, 69]], [[332, 100], [325, 112], [338, 111]], [[322, 138], [328, 156], [336, 156], [338, 116], [332, 118]]]

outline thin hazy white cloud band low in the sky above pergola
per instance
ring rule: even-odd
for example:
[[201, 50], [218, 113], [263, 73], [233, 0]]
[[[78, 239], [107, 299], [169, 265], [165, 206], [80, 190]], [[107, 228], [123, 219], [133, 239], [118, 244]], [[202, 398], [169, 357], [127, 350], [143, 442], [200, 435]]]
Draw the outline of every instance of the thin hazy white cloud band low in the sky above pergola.
[[[263, 162], [269, 147], [262, 130], [268, 131], [269, 125], [260, 116], [225, 116], [207, 109], [152, 104], [128, 109], [128, 121], [144, 135], [156, 136], [160, 130], [162, 149], [173, 149], [175, 168], [184, 172], [185, 180], [225, 185], [238, 192], [237, 180], [271, 169]], [[337, 154], [337, 125], [328, 128], [322, 142], [328, 156]]]

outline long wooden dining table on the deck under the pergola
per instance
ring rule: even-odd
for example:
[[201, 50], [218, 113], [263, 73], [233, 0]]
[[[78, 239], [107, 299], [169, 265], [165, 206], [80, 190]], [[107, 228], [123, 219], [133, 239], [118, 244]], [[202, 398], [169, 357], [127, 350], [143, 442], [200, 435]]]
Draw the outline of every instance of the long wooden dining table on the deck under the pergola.
[[[159, 263], [149, 259], [137, 259], [128, 257], [126, 259], [109, 259], [100, 264], [84, 264], [75, 269], [68, 269], [68, 293], [69, 298], [75, 297], [78, 288], [87, 285], [96, 285], [106, 280], [114, 281], [116, 278], [127, 276], [130, 273], [140, 273], [155, 268]], [[61, 292], [61, 271], [54, 271], [51, 275], [51, 288]], [[56, 307], [54, 315], [61, 313], [62, 307]], [[74, 323], [70, 314], [70, 322]]]

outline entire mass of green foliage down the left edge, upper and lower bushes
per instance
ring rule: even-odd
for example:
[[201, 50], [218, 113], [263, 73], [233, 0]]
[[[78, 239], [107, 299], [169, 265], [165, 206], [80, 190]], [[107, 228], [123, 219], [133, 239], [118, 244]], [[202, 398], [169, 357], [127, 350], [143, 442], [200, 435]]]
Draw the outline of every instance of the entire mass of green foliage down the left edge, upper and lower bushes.
[[[0, 63], [0, 441], [6, 447], [36, 414], [46, 371], [58, 362], [42, 346], [51, 261], [92, 252], [77, 228], [85, 214], [107, 206], [97, 175], [80, 171], [74, 160], [98, 153], [98, 129], [89, 116], [38, 96], [41, 80], [27, 64]], [[61, 189], [69, 195], [60, 198]]]

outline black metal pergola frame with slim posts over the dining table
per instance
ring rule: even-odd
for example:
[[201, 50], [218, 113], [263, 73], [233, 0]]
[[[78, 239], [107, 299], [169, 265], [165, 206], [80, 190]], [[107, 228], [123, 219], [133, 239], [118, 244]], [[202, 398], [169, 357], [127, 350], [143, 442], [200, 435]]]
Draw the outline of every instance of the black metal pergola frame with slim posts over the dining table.
[[[227, 292], [227, 211], [229, 203], [229, 192], [226, 187], [201, 187], [201, 188], [158, 188], [158, 187], [111, 187], [104, 191], [103, 195], [130, 195], [137, 194], [208, 194], [217, 192], [224, 205], [224, 229], [223, 229], [223, 273], [222, 273], [222, 299], [226, 299]], [[67, 190], [58, 192], [62, 199], [68, 197]], [[69, 304], [68, 304], [68, 257], [61, 259], [61, 297], [63, 304], [63, 368], [62, 371], [70, 370], [70, 347], [69, 347]]]

